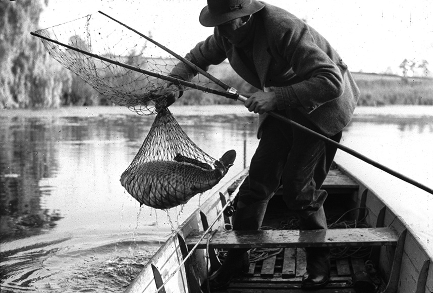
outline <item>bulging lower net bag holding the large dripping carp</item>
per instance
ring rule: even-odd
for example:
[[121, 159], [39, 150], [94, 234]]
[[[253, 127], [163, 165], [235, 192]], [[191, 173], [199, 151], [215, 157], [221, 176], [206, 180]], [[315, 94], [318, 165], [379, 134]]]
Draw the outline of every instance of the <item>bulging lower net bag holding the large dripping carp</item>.
[[215, 160], [186, 135], [167, 108], [159, 111], [140, 150], [121, 176], [140, 204], [168, 209], [188, 202], [217, 184], [236, 152]]

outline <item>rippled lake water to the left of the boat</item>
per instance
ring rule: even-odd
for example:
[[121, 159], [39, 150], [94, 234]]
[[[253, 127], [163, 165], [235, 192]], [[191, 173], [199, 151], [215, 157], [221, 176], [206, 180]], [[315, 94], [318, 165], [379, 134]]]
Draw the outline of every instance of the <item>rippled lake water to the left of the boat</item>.
[[[255, 118], [207, 113], [175, 117], [212, 157], [241, 154]], [[2, 292], [118, 292], [198, 206], [200, 197], [169, 212], [139, 208], [120, 185], [153, 119], [121, 108], [2, 113]]]

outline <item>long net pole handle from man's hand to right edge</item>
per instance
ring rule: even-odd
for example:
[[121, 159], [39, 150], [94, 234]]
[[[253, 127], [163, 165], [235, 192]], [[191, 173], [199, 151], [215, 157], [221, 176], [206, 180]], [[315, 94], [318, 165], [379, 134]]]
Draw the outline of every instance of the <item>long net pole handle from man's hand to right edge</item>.
[[[246, 97], [242, 94], [239, 94], [238, 100], [241, 101], [242, 103], [245, 103], [245, 101], [248, 100], [248, 97]], [[329, 144], [332, 144], [332, 145], [336, 146], [338, 149], [364, 161], [367, 164], [370, 164], [370, 165], [372, 165], [378, 169], [381, 169], [382, 171], [387, 172], [388, 174], [391, 174], [391, 175], [393, 175], [393, 176], [395, 176], [395, 177], [397, 177], [397, 178], [399, 178], [399, 179], [401, 179], [407, 183], [410, 183], [410, 184], [412, 184], [418, 188], [421, 188], [424, 191], [427, 191], [430, 194], [433, 194], [432, 188], [430, 188], [426, 185], [423, 185], [422, 183], [417, 182], [417, 181], [415, 181], [415, 180], [413, 180], [413, 179], [411, 179], [411, 178], [409, 178], [409, 177], [407, 177], [407, 176], [405, 176], [405, 175], [403, 175], [403, 174], [401, 174], [395, 170], [392, 170], [392, 169], [388, 168], [387, 166], [384, 166], [384, 165], [382, 165], [382, 164], [380, 164], [374, 160], [371, 160], [370, 158], [365, 157], [364, 155], [356, 152], [355, 150], [352, 150], [352, 149], [348, 148], [347, 146], [345, 146], [345, 145], [343, 145], [337, 141], [334, 141], [327, 136], [324, 136], [324, 135], [322, 135], [322, 134], [320, 134], [314, 130], [311, 130], [308, 127], [305, 127], [305, 126], [303, 126], [303, 125], [301, 125], [301, 124], [299, 124], [299, 123], [297, 123], [297, 122], [295, 122], [295, 121], [293, 121], [293, 120], [291, 120], [291, 119], [289, 119], [289, 118], [287, 118], [281, 114], [275, 113], [274, 111], [269, 111], [269, 112], [267, 112], [267, 114], [269, 114], [270, 116], [272, 116], [272, 117], [274, 117], [280, 121], [288, 123], [288, 124], [298, 128], [298, 129], [301, 129], [302, 131], [307, 132], [307, 133], [309, 133], [309, 134], [311, 134], [311, 135], [313, 135], [313, 136], [315, 136], [315, 137], [317, 137], [317, 138], [319, 138], [319, 139], [321, 139], [321, 140], [323, 140]]]

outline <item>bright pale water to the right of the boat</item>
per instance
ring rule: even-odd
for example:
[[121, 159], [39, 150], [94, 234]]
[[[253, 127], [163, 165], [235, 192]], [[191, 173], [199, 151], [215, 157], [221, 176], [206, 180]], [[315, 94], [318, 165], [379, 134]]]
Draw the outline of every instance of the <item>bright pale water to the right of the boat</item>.
[[[418, 110], [418, 119], [414, 113], [409, 117], [404, 113], [402, 117], [406, 119], [388, 117], [388, 122], [385, 119], [378, 122], [361, 119], [358, 122], [355, 117], [341, 143], [433, 188], [433, 108], [420, 107]], [[401, 216], [433, 257], [433, 197], [430, 193], [344, 152], [337, 153], [336, 161], [366, 182], [395, 214]]]

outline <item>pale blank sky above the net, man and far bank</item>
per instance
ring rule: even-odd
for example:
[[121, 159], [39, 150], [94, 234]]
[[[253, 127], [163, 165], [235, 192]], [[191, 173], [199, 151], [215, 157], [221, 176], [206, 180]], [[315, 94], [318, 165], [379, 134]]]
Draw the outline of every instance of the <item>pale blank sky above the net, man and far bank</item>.
[[[288, 10], [326, 37], [351, 71], [398, 70], [406, 59], [427, 60], [433, 71], [431, 0], [267, 0]], [[198, 15], [205, 0], [49, 0], [46, 28], [98, 10], [152, 37], [180, 55], [212, 33]]]

